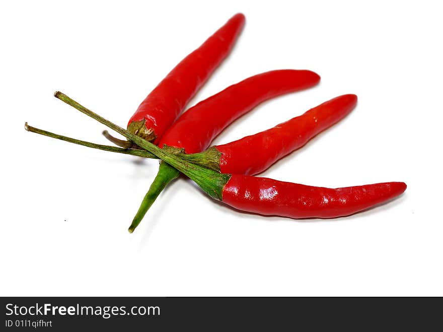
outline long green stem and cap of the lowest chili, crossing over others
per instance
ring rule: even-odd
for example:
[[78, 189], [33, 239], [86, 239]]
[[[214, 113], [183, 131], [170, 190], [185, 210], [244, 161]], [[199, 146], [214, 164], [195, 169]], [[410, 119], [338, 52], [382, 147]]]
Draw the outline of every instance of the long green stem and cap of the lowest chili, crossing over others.
[[66, 104], [76, 108], [77, 110], [81, 111], [82, 113], [92, 117], [93, 119], [99, 121], [100, 123], [103, 123], [107, 127], [117, 131], [120, 135], [127, 138], [129, 141], [135, 143], [140, 148], [143, 148], [160, 159], [164, 160], [186, 176], [188, 176], [190, 179], [192, 179], [195, 183], [197, 183], [207, 194], [209, 194], [211, 197], [215, 198], [216, 200], [221, 200], [221, 195], [223, 193], [223, 188], [225, 187], [225, 184], [229, 181], [231, 178], [231, 174], [223, 174], [215, 172], [211, 169], [205, 168], [200, 165], [192, 164], [188, 161], [185, 161], [177, 156], [174, 156], [173, 154], [170, 154], [162, 149], [160, 149], [158, 146], [143, 140], [142, 138], [135, 136], [131, 134], [129, 131], [119, 127], [118, 125], [106, 120], [105, 118], [101, 117], [100, 115], [94, 113], [93, 111], [87, 109], [86, 107], [80, 105], [78, 102], [72, 100], [65, 94], [61, 92], [56, 92], [54, 96]]

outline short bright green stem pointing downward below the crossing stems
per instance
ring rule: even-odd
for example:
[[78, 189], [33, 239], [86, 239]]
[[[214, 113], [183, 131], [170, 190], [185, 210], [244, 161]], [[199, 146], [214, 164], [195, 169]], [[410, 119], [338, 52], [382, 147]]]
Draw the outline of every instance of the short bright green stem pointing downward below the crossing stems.
[[137, 214], [132, 220], [131, 226], [129, 226], [128, 228], [129, 233], [132, 233], [134, 229], [138, 226], [138, 224], [141, 222], [144, 215], [146, 214], [147, 210], [151, 208], [151, 206], [156, 201], [158, 195], [163, 191], [163, 189], [165, 189], [168, 183], [177, 178], [179, 175], [180, 172], [174, 167], [163, 161], [160, 162], [159, 172], [157, 173], [154, 182], [151, 184], [151, 187], [144, 195], [143, 201], [138, 208]]

